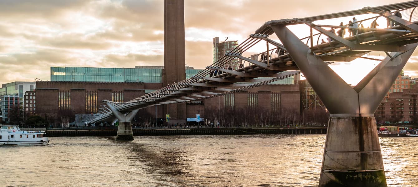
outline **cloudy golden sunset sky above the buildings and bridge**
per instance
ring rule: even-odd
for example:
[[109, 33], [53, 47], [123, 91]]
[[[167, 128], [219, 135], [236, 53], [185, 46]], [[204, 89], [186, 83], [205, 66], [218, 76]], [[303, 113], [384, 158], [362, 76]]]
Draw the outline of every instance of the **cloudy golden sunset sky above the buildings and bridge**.
[[[196, 69], [209, 66], [213, 37], [219, 36], [220, 40], [228, 37], [241, 43], [269, 20], [404, 1], [185, 0], [186, 65]], [[0, 83], [35, 78], [48, 81], [51, 66], [163, 66], [163, 3], [163, 0], [1, 0]], [[340, 21], [346, 23], [350, 19], [326, 23], [339, 25]], [[379, 23], [379, 27], [385, 28], [385, 20]], [[294, 27], [293, 31], [301, 37], [308, 35], [306, 28]], [[263, 47], [252, 50], [249, 53], [260, 53]], [[367, 57], [383, 59], [385, 54], [377, 52]], [[356, 84], [377, 63], [359, 59], [336, 63], [331, 68], [347, 83]], [[405, 74], [418, 76], [417, 52], [405, 66]]]

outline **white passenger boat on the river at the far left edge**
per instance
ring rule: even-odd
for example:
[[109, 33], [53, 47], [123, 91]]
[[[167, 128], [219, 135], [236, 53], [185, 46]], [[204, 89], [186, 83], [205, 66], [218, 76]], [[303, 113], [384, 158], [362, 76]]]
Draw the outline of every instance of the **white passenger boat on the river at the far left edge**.
[[48, 137], [44, 137], [45, 131], [22, 131], [19, 126], [0, 126], [0, 146], [36, 146], [49, 143]]

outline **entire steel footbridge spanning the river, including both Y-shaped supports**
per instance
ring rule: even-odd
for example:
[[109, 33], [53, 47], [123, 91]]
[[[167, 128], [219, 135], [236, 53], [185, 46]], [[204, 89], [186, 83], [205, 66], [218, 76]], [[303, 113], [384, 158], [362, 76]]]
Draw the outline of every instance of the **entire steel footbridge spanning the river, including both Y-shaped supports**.
[[[330, 113], [319, 186], [386, 187], [374, 113], [418, 45], [417, 6], [418, 1], [409, 1], [267, 21], [192, 78], [125, 103], [104, 100], [99, 112], [86, 123], [117, 119], [117, 139], [133, 139], [130, 121], [140, 109], [222, 96], [303, 73]], [[354, 16], [362, 19], [347, 25], [319, 24], [347, 21]], [[387, 28], [376, 28], [382, 20]], [[361, 27], [370, 23], [370, 28]], [[292, 25], [304, 25], [305, 33], [310, 35], [298, 38], [293, 32], [302, 27]], [[346, 33], [336, 34], [340, 29]], [[278, 40], [271, 39], [274, 35]], [[260, 42], [266, 43], [265, 51], [245, 57], [246, 51]], [[364, 57], [372, 51], [386, 56]], [[236, 58], [242, 66], [232, 61]], [[354, 87], [328, 66], [357, 58], [380, 63]]]

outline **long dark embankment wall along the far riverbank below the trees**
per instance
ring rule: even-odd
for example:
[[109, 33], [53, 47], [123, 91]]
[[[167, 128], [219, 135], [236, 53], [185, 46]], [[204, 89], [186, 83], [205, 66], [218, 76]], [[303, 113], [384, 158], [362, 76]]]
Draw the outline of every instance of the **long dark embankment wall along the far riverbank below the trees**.
[[[116, 136], [116, 132], [117, 129], [47, 129], [46, 136]], [[133, 129], [134, 136], [235, 134], [326, 134], [326, 127]]]

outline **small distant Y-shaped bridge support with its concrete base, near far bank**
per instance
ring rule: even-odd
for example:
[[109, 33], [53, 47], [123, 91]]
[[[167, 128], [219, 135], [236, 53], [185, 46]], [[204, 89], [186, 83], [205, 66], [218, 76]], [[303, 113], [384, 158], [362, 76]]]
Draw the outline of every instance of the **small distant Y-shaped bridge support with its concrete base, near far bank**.
[[119, 120], [119, 125], [117, 126], [117, 140], [133, 140], [133, 131], [131, 121], [133, 117], [138, 113], [139, 109], [133, 110], [128, 114], [122, 114], [118, 111], [110, 102], [106, 102], [106, 105], [115, 114], [116, 118]]

